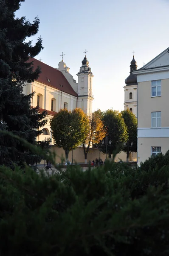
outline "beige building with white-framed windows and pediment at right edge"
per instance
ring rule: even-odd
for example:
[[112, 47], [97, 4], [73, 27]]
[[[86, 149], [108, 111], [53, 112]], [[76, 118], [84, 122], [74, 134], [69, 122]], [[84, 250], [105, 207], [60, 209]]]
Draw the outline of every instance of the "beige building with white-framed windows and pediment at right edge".
[[169, 150], [169, 53], [133, 72], [138, 82], [138, 166]]

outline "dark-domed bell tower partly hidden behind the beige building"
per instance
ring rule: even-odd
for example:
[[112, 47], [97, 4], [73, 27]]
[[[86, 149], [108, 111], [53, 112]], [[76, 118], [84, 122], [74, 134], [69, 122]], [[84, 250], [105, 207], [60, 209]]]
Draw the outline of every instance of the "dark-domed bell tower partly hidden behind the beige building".
[[[133, 52], [134, 53], [134, 52]], [[130, 75], [125, 80], [124, 86], [124, 109], [127, 108], [132, 111], [137, 117], [137, 76], [132, 74], [132, 71], [137, 70], [137, 62], [135, 61], [134, 55], [130, 62]]]

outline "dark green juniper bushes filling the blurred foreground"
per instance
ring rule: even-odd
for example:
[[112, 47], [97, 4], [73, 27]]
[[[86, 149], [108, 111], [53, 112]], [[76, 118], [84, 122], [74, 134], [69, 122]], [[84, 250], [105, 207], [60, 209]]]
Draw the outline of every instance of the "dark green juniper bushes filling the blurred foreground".
[[51, 177], [0, 167], [1, 256], [168, 256], [168, 154]]

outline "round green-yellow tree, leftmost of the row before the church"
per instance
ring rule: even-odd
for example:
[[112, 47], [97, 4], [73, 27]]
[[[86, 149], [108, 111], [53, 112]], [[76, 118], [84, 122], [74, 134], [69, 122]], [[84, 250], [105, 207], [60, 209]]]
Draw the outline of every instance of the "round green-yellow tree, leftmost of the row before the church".
[[68, 159], [69, 151], [81, 145], [88, 134], [89, 120], [80, 108], [72, 111], [61, 109], [50, 121], [54, 143], [65, 151]]

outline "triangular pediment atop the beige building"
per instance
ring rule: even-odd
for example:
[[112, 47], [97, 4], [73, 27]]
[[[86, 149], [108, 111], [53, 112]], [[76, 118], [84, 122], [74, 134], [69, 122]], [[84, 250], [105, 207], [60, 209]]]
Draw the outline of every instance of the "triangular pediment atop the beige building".
[[149, 68], [155, 68], [155, 67], [163, 67], [163, 66], [169, 66], [169, 53], [168, 49], [161, 52], [157, 57], [152, 59], [152, 61], [149, 61], [146, 65], [141, 67], [140, 70], [149, 69]]

